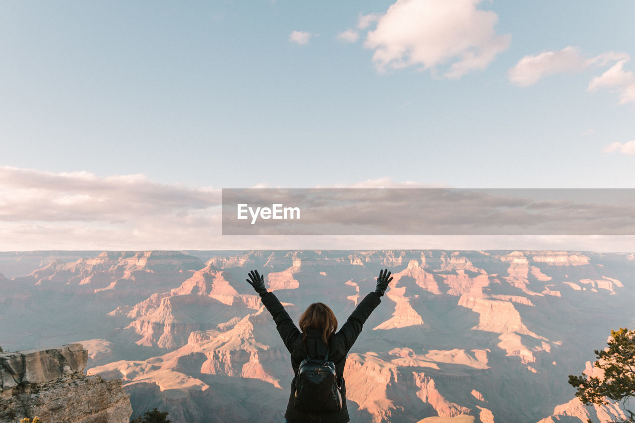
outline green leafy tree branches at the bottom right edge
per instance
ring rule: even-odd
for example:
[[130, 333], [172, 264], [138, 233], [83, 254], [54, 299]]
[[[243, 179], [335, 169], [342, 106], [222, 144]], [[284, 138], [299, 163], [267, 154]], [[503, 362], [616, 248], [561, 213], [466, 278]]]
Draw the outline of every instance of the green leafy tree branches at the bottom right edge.
[[[604, 377], [569, 375], [569, 384], [577, 388], [575, 396], [584, 405], [609, 404], [613, 400], [622, 401], [624, 406], [635, 397], [635, 330], [612, 330], [608, 348], [594, 352], [594, 366], [604, 371]], [[635, 422], [635, 413], [625, 408], [624, 411], [629, 417], [623, 421]]]

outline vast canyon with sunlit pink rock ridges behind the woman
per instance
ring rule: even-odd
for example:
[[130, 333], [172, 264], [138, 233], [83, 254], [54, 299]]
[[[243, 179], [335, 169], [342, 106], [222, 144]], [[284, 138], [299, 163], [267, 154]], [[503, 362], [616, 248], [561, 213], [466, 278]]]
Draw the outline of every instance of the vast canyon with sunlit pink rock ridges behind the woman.
[[[84, 340], [91, 375], [123, 380], [133, 415], [156, 406], [175, 422], [277, 422], [293, 377], [290, 357], [247, 273], [265, 275], [296, 323], [319, 301], [341, 327], [388, 268], [394, 279], [344, 370], [352, 421], [585, 423], [620, 415], [615, 407], [582, 406], [567, 380], [585, 370], [610, 329], [634, 318], [631, 253], [187, 252], [178, 253], [182, 262], [166, 261], [165, 270], [151, 269], [146, 254], [95, 254], [6, 278], [0, 283], [9, 295], [0, 305], [13, 312], [0, 309], [0, 318], [24, 325], [13, 314], [25, 316], [18, 304], [52, 307], [44, 297], [34, 300], [33, 290], [62, 287], [75, 304], [81, 298], [91, 307], [83, 307], [84, 322], [70, 326], [83, 335], [68, 342]], [[126, 269], [146, 294], [100, 297], [122, 283], [105, 290], [112, 281], [98, 275], [124, 278]], [[180, 276], [171, 286], [140, 276], [170, 274]], [[79, 297], [88, 286], [90, 296]], [[56, 316], [64, 316], [59, 308]], [[85, 329], [107, 324], [107, 331]], [[50, 325], [47, 336], [68, 332]]]

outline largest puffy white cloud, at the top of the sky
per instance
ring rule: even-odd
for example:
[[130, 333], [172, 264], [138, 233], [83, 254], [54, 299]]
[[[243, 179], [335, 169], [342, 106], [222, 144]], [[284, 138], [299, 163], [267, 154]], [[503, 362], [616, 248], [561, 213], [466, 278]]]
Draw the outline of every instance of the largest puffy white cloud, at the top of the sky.
[[[481, 0], [398, 0], [377, 18], [364, 46], [375, 50], [373, 62], [380, 72], [420, 65], [436, 74], [458, 78], [485, 69], [511, 42], [498, 35], [498, 15], [478, 10]], [[363, 18], [363, 19], [362, 19]], [[358, 27], [370, 24], [362, 17]]]

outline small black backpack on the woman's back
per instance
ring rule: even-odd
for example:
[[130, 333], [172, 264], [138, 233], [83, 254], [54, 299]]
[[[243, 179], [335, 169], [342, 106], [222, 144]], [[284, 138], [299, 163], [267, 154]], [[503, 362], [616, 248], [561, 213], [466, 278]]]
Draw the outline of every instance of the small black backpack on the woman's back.
[[338, 412], [342, 410], [342, 394], [337, 386], [335, 363], [328, 359], [313, 359], [307, 354], [295, 377], [294, 406], [296, 410]]

